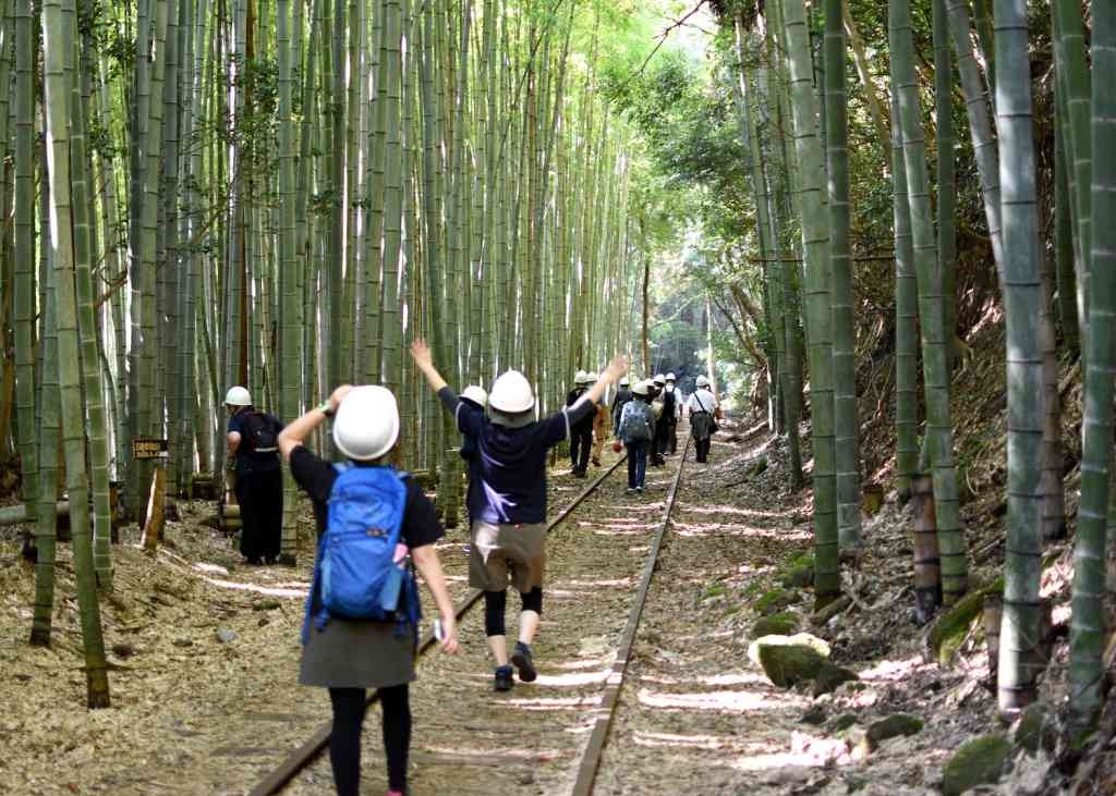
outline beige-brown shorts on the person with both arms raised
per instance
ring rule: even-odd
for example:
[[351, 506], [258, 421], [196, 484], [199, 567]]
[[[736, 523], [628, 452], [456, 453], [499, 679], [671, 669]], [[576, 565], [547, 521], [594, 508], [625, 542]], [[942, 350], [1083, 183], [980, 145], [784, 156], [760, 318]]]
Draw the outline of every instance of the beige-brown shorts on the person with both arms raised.
[[472, 537], [469, 585], [473, 589], [502, 592], [509, 580], [520, 592], [542, 586], [547, 564], [546, 523], [496, 525], [477, 520]]

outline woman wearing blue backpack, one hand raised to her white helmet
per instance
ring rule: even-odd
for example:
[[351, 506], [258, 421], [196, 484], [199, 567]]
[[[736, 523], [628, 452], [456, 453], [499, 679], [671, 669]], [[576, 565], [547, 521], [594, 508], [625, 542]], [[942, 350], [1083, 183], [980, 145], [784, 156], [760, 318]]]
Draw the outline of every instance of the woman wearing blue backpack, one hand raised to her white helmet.
[[[334, 444], [348, 460], [330, 465], [302, 440], [335, 415]], [[339, 796], [359, 793], [367, 688], [376, 689], [383, 708], [388, 796], [407, 789], [407, 683], [415, 679], [419, 639], [419, 590], [408, 554], [437, 604], [442, 650], [458, 651], [453, 603], [434, 550], [445, 532], [419, 485], [386, 464], [398, 434], [391, 390], [345, 385], [279, 435], [279, 450], [314, 502], [320, 537], [298, 681], [329, 689], [329, 761]]]

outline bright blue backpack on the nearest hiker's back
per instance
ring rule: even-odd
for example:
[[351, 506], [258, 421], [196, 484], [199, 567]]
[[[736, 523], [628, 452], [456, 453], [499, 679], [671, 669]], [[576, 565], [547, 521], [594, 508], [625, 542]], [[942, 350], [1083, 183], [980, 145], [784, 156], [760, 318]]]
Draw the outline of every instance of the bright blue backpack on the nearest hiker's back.
[[[314, 585], [306, 601], [302, 643], [310, 620], [318, 630], [333, 617], [396, 622], [402, 635], [417, 632], [420, 606], [414, 571], [396, 559], [406, 509], [405, 475], [394, 467], [334, 465], [326, 532], [318, 542]], [[314, 595], [321, 603], [314, 613]], [[311, 617], [312, 614], [312, 617]]]

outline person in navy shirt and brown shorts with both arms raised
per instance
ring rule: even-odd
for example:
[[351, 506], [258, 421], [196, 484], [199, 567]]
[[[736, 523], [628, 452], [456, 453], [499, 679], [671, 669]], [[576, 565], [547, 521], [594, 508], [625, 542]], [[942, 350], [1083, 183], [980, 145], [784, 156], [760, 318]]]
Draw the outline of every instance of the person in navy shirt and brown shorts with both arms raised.
[[547, 452], [568, 436], [570, 427], [591, 417], [605, 387], [623, 376], [627, 365], [617, 357], [574, 406], [536, 421], [535, 396], [522, 373], [509, 370], [493, 382], [485, 417], [446, 386], [424, 340], [411, 343], [411, 356], [456, 419], [458, 428], [480, 450], [477, 460], [483, 503], [472, 523], [469, 584], [484, 592], [484, 634], [496, 660], [493, 688], [507, 691], [512, 687], [504, 625], [509, 581], [522, 601], [511, 663], [523, 682], [537, 677], [531, 641], [542, 613]]

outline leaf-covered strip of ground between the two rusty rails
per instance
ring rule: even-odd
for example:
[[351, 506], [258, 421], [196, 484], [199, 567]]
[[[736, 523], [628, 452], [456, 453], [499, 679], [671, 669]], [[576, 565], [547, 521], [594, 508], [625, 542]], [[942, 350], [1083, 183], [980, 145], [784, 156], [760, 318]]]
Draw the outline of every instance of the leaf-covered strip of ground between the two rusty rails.
[[[510, 693], [492, 691], [480, 611], [462, 624], [461, 656], [435, 654], [421, 663], [412, 690], [413, 794], [566, 789], [677, 462], [675, 456], [666, 467], [652, 469], [642, 497], [625, 495], [622, 465], [551, 535], [542, 624], [533, 644], [536, 682], [517, 682]], [[509, 633], [514, 632], [516, 609], [518, 599], [509, 595]], [[364, 789], [377, 793], [386, 771], [375, 710], [365, 724], [363, 767]], [[330, 789], [323, 758], [289, 793]]]

